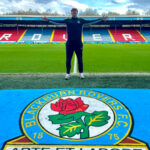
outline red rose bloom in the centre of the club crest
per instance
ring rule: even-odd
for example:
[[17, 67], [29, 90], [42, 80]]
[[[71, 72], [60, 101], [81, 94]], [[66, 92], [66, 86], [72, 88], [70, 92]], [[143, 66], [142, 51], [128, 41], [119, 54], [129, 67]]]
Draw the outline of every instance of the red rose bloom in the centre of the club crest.
[[55, 104], [51, 104], [51, 109], [58, 111], [60, 114], [72, 114], [76, 112], [85, 111], [89, 105], [84, 104], [81, 98], [73, 99], [60, 99]]

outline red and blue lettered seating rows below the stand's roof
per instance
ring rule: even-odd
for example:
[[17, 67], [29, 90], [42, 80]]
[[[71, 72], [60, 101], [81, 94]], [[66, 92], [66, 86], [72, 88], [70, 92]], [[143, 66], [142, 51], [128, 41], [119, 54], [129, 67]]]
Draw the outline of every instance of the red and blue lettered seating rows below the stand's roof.
[[[0, 29], [0, 42], [66, 42], [65, 28]], [[84, 28], [83, 42], [150, 42], [150, 30]]]

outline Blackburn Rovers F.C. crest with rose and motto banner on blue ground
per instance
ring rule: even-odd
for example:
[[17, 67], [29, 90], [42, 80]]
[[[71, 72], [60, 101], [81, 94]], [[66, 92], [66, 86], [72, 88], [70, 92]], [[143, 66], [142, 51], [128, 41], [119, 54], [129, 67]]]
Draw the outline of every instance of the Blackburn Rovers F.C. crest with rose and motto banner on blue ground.
[[97, 91], [66, 89], [31, 102], [21, 115], [23, 136], [5, 150], [147, 149], [129, 137], [132, 117], [117, 99]]

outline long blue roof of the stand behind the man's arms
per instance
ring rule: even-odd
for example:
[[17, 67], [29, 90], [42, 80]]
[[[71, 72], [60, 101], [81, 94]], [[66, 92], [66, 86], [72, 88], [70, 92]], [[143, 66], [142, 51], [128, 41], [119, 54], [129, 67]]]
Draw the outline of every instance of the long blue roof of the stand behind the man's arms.
[[[44, 16], [23, 16], [23, 15], [3, 15], [0, 16], [0, 24], [39, 24], [46, 25], [50, 24], [42, 20]], [[47, 16], [53, 20], [63, 20], [67, 17], [64, 16]], [[87, 20], [97, 19], [101, 16], [79, 16]], [[111, 16], [107, 18], [107, 21], [98, 23], [103, 24], [150, 24], [150, 16]]]

